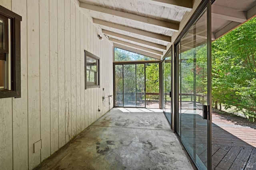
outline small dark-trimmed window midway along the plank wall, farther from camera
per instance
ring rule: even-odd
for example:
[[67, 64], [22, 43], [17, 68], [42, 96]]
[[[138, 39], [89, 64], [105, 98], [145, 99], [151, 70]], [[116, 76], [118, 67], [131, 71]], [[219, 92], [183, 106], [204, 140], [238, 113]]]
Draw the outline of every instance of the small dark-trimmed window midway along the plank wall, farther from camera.
[[100, 58], [85, 52], [85, 88], [100, 87]]

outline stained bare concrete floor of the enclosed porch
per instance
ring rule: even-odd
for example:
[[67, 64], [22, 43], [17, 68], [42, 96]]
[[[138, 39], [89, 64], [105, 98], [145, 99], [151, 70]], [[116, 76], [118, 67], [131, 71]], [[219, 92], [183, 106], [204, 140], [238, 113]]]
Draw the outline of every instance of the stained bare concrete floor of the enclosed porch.
[[124, 113], [114, 108], [35, 169], [194, 168], [163, 113]]

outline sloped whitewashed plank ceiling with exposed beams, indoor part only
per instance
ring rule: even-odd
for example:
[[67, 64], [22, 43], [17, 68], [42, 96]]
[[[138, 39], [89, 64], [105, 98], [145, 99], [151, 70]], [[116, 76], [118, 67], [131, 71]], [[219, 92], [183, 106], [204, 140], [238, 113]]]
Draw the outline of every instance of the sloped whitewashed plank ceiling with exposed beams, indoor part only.
[[115, 47], [161, 59], [192, 0], [79, 0]]

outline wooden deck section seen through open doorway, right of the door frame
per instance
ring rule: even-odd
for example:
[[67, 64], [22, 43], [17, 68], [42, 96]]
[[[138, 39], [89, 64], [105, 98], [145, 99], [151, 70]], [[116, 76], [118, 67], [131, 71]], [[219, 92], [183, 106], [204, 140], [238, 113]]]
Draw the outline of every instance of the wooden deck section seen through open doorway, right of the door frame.
[[256, 169], [256, 123], [230, 114], [212, 114], [212, 169]]

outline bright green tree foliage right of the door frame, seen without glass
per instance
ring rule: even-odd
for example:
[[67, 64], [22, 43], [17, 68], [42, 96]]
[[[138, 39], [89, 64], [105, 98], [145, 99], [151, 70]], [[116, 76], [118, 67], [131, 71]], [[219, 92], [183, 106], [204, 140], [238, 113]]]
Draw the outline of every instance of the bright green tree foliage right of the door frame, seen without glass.
[[212, 42], [212, 96], [225, 107], [256, 111], [256, 18]]

